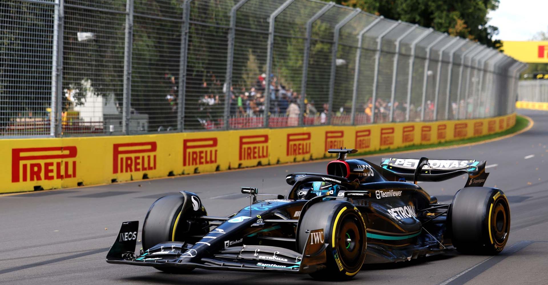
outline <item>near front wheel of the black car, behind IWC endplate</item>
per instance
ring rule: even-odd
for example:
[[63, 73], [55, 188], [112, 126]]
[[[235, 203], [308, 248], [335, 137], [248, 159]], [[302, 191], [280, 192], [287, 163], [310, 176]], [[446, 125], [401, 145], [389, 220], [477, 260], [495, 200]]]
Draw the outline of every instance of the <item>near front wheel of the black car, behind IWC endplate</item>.
[[366, 258], [366, 224], [354, 205], [344, 201], [316, 203], [301, 218], [298, 232], [302, 252], [309, 234], [306, 230], [324, 230], [327, 267], [310, 274], [317, 280], [344, 281], [354, 277]]

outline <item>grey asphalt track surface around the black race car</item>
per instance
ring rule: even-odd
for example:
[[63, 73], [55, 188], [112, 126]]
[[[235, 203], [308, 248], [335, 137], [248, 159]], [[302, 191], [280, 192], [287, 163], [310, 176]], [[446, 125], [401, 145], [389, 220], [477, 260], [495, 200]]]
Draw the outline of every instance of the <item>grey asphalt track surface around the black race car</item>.
[[[474, 146], [420, 150], [403, 158], [487, 160], [486, 186], [510, 200], [511, 232], [496, 257], [449, 254], [388, 265], [365, 265], [348, 284], [548, 284], [548, 112], [520, 111], [531, 130]], [[381, 156], [367, 159], [380, 162]], [[212, 216], [249, 202], [239, 187], [287, 194], [291, 172], [324, 172], [326, 162], [175, 177], [0, 197], [0, 284], [318, 284], [308, 275], [195, 270], [165, 274], [152, 267], [112, 265], [106, 252], [124, 221], [139, 219], [158, 197], [195, 191]], [[264, 181], [263, 181], [264, 179]], [[420, 185], [441, 202], [464, 177]], [[140, 240], [139, 234], [139, 240]], [[140, 247], [140, 243], [138, 243]], [[322, 283], [322, 282], [319, 282]], [[327, 282], [325, 282], [327, 283]]]

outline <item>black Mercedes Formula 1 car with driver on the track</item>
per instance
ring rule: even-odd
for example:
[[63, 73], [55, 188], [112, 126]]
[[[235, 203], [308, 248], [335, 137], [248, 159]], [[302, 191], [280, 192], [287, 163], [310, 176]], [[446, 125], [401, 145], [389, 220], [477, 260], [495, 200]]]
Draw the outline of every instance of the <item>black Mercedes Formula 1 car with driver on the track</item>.
[[[441, 254], [498, 254], [510, 232], [503, 191], [483, 187], [485, 161], [383, 159], [380, 166], [346, 159], [355, 149], [330, 149], [338, 159], [327, 175], [293, 173], [287, 197], [258, 201], [226, 217], [208, 216], [198, 195], [156, 200], [142, 227], [122, 223], [108, 263], [153, 266], [170, 273], [195, 268], [310, 274], [347, 280], [364, 263], [387, 263]], [[452, 203], [438, 203], [417, 183], [469, 176]], [[406, 181], [413, 181], [408, 183]]]

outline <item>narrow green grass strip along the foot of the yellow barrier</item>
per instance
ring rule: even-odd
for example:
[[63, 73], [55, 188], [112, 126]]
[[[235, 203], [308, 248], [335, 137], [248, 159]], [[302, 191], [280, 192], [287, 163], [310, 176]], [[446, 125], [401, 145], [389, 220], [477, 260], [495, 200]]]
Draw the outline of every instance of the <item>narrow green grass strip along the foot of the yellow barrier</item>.
[[449, 142], [443, 142], [443, 143], [432, 143], [432, 144], [413, 144], [412, 146], [407, 147], [401, 147], [401, 148], [388, 148], [388, 149], [379, 149], [374, 150], [372, 152], [358, 152], [352, 155], [370, 155], [370, 154], [381, 154], [381, 153], [391, 153], [391, 152], [404, 152], [406, 150], [419, 150], [419, 149], [425, 149], [425, 148], [437, 148], [437, 147], [449, 147], [449, 146], [456, 146], [459, 144], [467, 144], [467, 143], [475, 143], [475, 142], [481, 142], [481, 141], [487, 141], [488, 139], [498, 138], [506, 135], [510, 135], [511, 133], [515, 133], [518, 131], [521, 131], [525, 129], [529, 125], [529, 120], [526, 118], [517, 115], [516, 116], [516, 124], [511, 127], [510, 129], [498, 133], [492, 133], [491, 135], [485, 135], [481, 137], [472, 137], [472, 138], [466, 138], [466, 139], [458, 139], [456, 141], [449, 141]]

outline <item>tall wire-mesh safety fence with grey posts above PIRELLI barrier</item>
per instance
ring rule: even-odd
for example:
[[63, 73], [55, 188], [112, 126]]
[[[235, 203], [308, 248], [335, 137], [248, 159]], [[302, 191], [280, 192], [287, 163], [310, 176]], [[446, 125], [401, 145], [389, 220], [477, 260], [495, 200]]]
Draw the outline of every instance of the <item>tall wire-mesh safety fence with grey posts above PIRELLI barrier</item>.
[[317, 0], [4, 0], [0, 136], [483, 118], [525, 67]]

